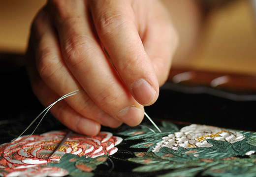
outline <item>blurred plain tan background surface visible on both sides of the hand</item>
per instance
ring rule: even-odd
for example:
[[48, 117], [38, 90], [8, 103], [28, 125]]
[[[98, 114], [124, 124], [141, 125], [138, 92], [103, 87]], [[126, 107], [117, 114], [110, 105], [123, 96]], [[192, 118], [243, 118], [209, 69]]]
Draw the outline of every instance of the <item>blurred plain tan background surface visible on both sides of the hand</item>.
[[[46, 0], [0, 0], [0, 53], [24, 54], [30, 24]], [[174, 67], [256, 74], [256, 25], [249, 0], [210, 14], [200, 46]]]

